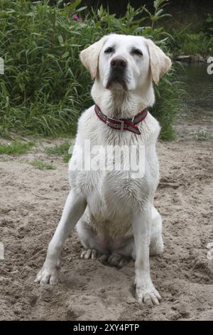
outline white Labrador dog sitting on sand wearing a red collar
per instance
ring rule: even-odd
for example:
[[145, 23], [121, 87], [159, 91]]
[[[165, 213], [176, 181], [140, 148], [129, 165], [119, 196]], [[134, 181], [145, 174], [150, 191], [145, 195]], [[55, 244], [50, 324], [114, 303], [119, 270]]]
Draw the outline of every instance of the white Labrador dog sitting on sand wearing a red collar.
[[[136, 298], [140, 303], [159, 304], [149, 254], [163, 252], [162, 222], [153, 206], [159, 180], [155, 143], [160, 126], [146, 108], [155, 101], [153, 81], [159, 82], [171, 61], [150, 39], [116, 34], [83, 50], [80, 59], [94, 79], [96, 105], [80, 117], [69, 168], [71, 191], [35, 281], [57, 284], [60, 252], [77, 225], [84, 259], [101, 255], [106, 263], [121, 267], [126, 258], [133, 257]], [[84, 153], [85, 140], [91, 148], [143, 146], [143, 176], [131, 177], [126, 170], [74, 170], [72, 163]]]

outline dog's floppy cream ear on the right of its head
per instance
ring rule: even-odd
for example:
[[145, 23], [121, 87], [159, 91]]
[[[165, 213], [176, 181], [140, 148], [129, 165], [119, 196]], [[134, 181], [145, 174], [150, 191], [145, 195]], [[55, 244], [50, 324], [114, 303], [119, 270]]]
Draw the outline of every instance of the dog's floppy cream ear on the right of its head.
[[151, 41], [151, 39], [146, 40], [146, 43], [148, 45], [152, 78], [153, 81], [158, 84], [160, 78], [169, 71], [172, 62], [159, 46], [156, 46], [155, 43]]

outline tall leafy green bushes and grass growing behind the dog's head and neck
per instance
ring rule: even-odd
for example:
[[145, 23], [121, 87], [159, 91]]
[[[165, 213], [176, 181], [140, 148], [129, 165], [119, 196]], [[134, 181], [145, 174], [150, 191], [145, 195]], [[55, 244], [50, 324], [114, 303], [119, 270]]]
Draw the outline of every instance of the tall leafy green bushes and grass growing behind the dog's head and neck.
[[[85, 7], [77, 9], [80, 0], [63, 7], [61, 2], [50, 6], [48, 1], [1, 1], [0, 56], [5, 62], [5, 74], [0, 76], [1, 135], [11, 130], [43, 135], [75, 133], [80, 112], [92, 103], [92, 82], [80, 64], [79, 53], [104, 34], [142, 34], [168, 51], [172, 37], [163, 27], [155, 29], [155, 22], [166, 15], [165, 0], [154, 1], [153, 14], [145, 6], [134, 10], [128, 5], [126, 16], [120, 19], [102, 6], [87, 13]], [[82, 11], [84, 19], [78, 19], [76, 14], [80, 16]], [[147, 19], [151, 26], [141, 26]], [[181, 102], [180, 92], [173, 70], [161, 81], [153, 108], [165, 139], [174, 135], [170, 130]]]

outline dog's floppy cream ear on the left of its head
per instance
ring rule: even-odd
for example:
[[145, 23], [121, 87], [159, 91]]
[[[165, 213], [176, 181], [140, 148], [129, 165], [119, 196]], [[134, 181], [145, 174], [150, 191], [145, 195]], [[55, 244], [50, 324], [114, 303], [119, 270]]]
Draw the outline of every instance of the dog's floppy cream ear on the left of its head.
[[80, 60], [85, 68], [87, 68], [90, 72], [92, 79], [94, 79], [97, 75], [99, 53], [101, 52], [106, 39], [107, 36], [102, 37], [99, 41], [93, 43], [92, 46], [88, 46], [88, 48], [82, 50], [80, 53]]

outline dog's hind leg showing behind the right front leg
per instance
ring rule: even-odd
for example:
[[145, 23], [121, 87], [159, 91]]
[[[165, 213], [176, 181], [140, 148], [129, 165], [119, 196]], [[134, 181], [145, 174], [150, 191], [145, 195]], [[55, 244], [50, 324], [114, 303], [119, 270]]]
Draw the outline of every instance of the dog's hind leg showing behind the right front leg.
[[162, 220], [155, 207], [152, 208], [151, 227], [150, 254], [151, 256], [155, 256], [163, 252]]

